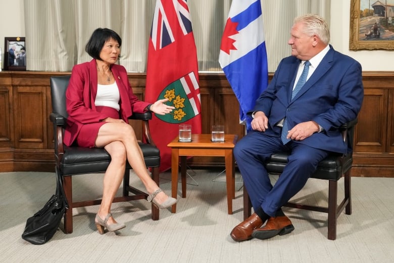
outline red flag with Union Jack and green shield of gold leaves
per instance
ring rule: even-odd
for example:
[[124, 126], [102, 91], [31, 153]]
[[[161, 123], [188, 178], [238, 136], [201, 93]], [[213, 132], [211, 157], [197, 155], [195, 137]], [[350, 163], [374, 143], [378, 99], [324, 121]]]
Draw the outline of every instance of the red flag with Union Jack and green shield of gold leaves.
[[160, 170], [171, 168], [167, 145], [178, 136], [179, 124], [201, 134], [201, 98], [197, 51], [186, 0], [157, 0], [148, 46], [145, 101], [167, 98], [175, 109], [154, 115], [153, 141], [160, 150]]

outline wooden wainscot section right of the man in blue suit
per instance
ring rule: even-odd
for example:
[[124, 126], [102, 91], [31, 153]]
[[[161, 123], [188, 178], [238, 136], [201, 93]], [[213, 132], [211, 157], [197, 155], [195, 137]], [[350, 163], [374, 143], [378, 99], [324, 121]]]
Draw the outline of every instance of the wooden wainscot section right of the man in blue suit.
[[364, 102], [356, 127], [352, 176], [394, 177], [394, 72], [363, 72]]

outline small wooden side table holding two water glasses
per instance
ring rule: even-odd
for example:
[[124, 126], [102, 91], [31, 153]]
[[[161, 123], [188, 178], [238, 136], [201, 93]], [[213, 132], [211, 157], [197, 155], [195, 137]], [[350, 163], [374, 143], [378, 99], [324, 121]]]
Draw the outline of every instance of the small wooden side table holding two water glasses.
[[[175, 138], [167, 146], [171, 148], [171, 187], [172, 197], [177, 197], [179, 157], [181, 163], [182, 198], [186, 197], [186, 158], [187, 156], [222, 156], [225, 158], [227, 208], [228, 214], [232, 214], [232, 199], [235, 198], [235, 161], [233, 149], [238, 140], [237, 135], [224, 135], [224, 142], [211, 142], [211, 134], [192, 134], [191, 142], [179, 142]], [[176, 212], [176, 204], [171, 208]]]

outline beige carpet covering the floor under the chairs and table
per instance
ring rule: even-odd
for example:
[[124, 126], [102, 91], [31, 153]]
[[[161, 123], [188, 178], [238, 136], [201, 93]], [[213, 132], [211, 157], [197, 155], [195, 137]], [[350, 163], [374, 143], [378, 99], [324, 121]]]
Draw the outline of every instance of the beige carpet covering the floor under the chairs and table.
[[[74, 232], [58, 231], [44, 245], [32, 245], [21, 234], [26, 219], [55, 192], [54, 173], [0, 173], [0, 262], [394, 262], [394, 179], [352, 179], [353, 214], [339, 216], [335, 241], [327, 239], [325, 213], [284, 208], [292, 233], [237, 243], [229, 233], [243, 216], [241, 184], [229, 215], [225, 183], [212, 182], [219, 172], [195, 170], [198, 186], [189, 178], [177, 213], [161, 210], [159, 221], [151, 220], [146, 201], [116, 203], [112, 212], [126, 228], [100, 235], [94, 225], [97, 206], [77, 208]], [[170, 194], [170, 173], [161, 177]], [[101, 174], [76, 176], [73, 183], [77, 198], [101, 195]], [[306, 196], [324, 204], [326, 190], [326, 182], [311, 179], [294, 199]]]

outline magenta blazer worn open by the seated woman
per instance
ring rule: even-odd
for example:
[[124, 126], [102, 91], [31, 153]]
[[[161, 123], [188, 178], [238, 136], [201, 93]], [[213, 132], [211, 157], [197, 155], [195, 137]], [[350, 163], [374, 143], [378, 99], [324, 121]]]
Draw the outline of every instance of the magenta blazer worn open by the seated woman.
[[[120, 116], [128, 122], [133, 112], [143, 113], [149, 103], [138, 100], [133, 94], [123, 66], [111, 66], [120, 94]], [[70, 146], [76, 139], [82, 125], [100, 122], [108, 116], [96, 111], [94, 101], [97, 94], [97, 68], [96, 62], [75, 65], [72, 69], [70, 82], [66, 91], [67, 125], [64, 132], [64, 144]]]

